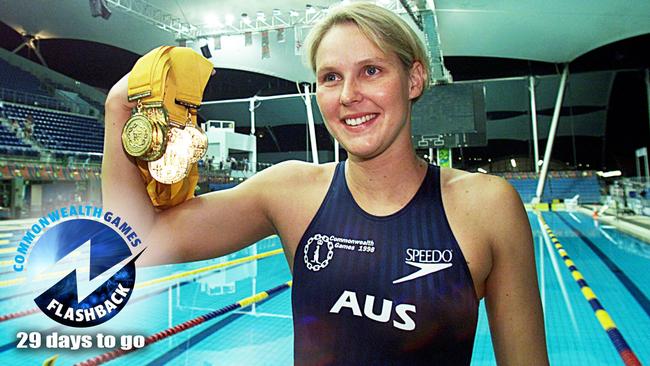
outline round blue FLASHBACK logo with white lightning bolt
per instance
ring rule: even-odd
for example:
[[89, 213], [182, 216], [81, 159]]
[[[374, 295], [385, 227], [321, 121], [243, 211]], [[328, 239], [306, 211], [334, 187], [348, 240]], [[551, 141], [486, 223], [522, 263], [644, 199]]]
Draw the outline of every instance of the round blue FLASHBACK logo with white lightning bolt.
[[[135, 261], [142, 252], [132, 255], [129, 243], [120, 233], [127, 239], [137, 235], [111, 212], [97, 216], [55, 223], [38, 238], [30, 252], [28, 278], [39, 287], [34, 302], [60, 324], [102, 324], [124, 308], [133, 292]], [[129, 242], [137, 246], [140, 240], [135, 245], [134, 241]]]

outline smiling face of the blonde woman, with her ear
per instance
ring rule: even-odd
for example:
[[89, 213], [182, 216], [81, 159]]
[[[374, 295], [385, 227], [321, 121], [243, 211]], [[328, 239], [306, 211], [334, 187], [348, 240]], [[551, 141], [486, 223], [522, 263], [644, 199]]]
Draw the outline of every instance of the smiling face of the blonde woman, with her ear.
[[411, 99], [423, 84], [419, 62], [407, 71], [396, 54], [384, 54], [352, 23], [332, 27], [315, 59], [318, 105], [348, 154], [370, 159], [396, 141], [410, 148]]

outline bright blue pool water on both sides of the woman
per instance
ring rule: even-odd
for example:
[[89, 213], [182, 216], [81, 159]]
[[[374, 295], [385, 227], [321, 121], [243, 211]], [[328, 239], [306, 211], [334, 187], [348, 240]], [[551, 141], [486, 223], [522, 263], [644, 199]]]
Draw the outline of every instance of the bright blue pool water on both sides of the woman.
[[[544, 212], [543, 218], [613, 318], [643, 364], [650, 363], [650, 245], [611, 227], [596, 226], [582, 214]], [[550, 241], [537, 216], [529, 213], [535, 239], [548, 352], [552, 365], [622, 365], [620, 356]], [[15, 247], [19, 230], [0, 231], [0, 253]], [[6, 239], [1, 239], [5, 237]], [[128, 306], [95, 328], [72, 329], [36, 313], [0, 322], [0, 364], [41, 364], [59, 354], [56, 365], [81, 362], [106, 352], [16, 349], [19, 331], [43, 334], [123, 334], [148, 336], [235, 303], [291, 279], [284, 255], [277, 254], [221, 270], [181, 275], [220, 262], [280, 248], [278, 238], [209, 261], [140, 269], [138, 283], [179, 274], [178, 278], [136, 288]], [[6, 251], [5, 251], [6, 252]], [[0, 284], [16, 274], [0, 254]], [[34, 307], [22, 285], [0, 286], [0, 316]], [[290, 290], [255, 307], [236, 310], [109, 362], [114, 365], [290, 365], [292, 358]], [[481, 304], [472, 365], [494, 365], [487, 317]]]

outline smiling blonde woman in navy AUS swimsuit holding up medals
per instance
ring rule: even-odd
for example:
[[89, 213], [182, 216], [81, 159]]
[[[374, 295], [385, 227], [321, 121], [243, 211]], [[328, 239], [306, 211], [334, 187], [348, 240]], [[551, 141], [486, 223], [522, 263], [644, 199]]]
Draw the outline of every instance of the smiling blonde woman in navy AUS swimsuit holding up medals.
[[469, 364], [483, 297], [499, 364], [547, 364], [519, 196], [413, 150], [411, 107], [428, 70], [417, 36], [393, 13], [353, 3], [330, 11], [308, 44], [318, 104], [348, 160], [285, 162], [161, 212], [120, 145], [126, 78], [111, 90], [104, 204], [146, 238], [144, 260], [212, 258], [278, 234], [299, 365]]

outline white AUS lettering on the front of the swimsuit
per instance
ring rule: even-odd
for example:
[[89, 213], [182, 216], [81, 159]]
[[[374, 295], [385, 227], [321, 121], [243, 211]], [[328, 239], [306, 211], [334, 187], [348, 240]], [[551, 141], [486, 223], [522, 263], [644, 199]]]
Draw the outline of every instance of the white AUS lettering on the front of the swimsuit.
[[[375, 297], [372, 295], [366, 295], [362, 313], [356, 292], [345, 290], [339, 299], [336, 300], [334, 306], [330, 309], [330, 313], [338, 314], [343, 308], [352, 310], [352, 315], [354, 316], [363, 317], [365, 315], [365, 317], [370, 320], [380, 323], [388, 323], [392, 318], [393, 302], [391, 300], [382, 299], [381, 312], [375, 314]], [[397, 319], [393, 320], [393, 326], [401, 330], [415, 329], [415, 321], [409, 316], [409, 312], [415, 314], [415, 305], [397, 304], [397, 306], [395, 306], [395, 315]]]

